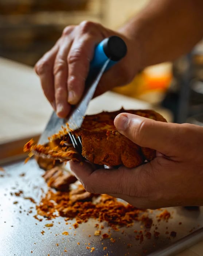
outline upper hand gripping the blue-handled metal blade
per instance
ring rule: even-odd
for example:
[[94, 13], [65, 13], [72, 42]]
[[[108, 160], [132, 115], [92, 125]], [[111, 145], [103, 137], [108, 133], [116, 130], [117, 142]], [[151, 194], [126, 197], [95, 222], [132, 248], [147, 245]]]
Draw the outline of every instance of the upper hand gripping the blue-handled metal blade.
[[[66, 117], [71, 105], [81, 98], [93, 59], [94, 48], [104, 38], [118, 35], [124, 39], [126, 56], [101, 78], [95, 95], [129, 83], [138, 71], [138, 47], [130, 36], [120, 34], [94, 22], [68, 26], [54, 47], [36, 63], [42, 89], [59, 117]], [[136, 60], [136, 61], [135, 61]]]

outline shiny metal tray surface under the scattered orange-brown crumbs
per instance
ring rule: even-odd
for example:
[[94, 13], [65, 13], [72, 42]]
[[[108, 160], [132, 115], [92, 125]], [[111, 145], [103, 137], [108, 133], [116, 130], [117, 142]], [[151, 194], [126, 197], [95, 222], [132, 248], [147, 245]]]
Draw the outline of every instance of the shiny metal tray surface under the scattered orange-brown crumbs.
[[[1, 146], [0, 151], [3, 151]], [[47, 191], [47, 185], [42, 178], [44, 171], [34, 159], [26, 164], [24, 160], [9, 160], [9, 163], [5, 163], [6, 161], [1, 159], [1, 162], [4, 162], [1, 167], [5, 171], [0, 171], [0, 255], [166, 256], [174, 255], [203, 239], [203, 207], [167, 208], [172, 216], [168, 222], [158, 221], [156, 216], [160, 214], [160, 210], [149, 210], [147, 214], [153, 219], [150, 229], [143, 227], [140, 222], [134, 222], [132, 227], [121, 227], [120, 231], [111, 230], [114, 242], [94, 236], [95, 224], [98, 223], [94, 219], [79, 225], [77, 229], [72, 226], [75, 220], [68, 221], [69, 224], [66, 225], [62, 217], [54, 220], [41, 217], [42, 221], [38, 221], [34, 218], [35, 204], [25, 197], [32, 197], [36, 203], [40, 202], [40, 197]], [[23, 193], [16, 196], [15, 192], [21, 190]], [[46, 227], [48, 223], [53, 223], [53, 226]], [[102, 224], [102, 233], [108, 233], [109, 227], [106, 223]], [[144, 237], [143, 242], [136, 240], [134, 230], [145, 229], [152, 233], [151, 239]], [[69, 235], [62, 234], [64, 231], [69, 232]], [[153, 236], [154, 231], [160, 233], [158, 238]], [[173, 238], [166, 234], [166, 231], [169, 234], [175, 231], [177, 235]], [[94, 247], [95, 251], [90, 252], [91, 247]]]

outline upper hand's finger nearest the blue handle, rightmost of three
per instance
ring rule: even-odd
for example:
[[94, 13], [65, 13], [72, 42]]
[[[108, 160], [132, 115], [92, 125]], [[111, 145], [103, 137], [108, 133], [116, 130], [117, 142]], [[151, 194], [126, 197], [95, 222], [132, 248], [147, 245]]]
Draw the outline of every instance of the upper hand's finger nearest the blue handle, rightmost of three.
[[68, 56], [68, 102], [70, 104], [78, 103], [81, 98], [95, 45], [104, 39], [98, 26], [92, 22], [83, 22], [78, 27], [78, 33], [71, 46]]

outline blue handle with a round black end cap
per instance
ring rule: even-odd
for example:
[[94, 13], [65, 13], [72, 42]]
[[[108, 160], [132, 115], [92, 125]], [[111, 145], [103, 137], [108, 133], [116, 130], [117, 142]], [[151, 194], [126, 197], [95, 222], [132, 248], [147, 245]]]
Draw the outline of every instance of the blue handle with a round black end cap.
[[94, 50], [94, 57], [90, 63], [90, 73], [102, 68], [106, 60], [110, 59], [106, 70], [121, 60], [127, 52], [127, 47], [122, 38], [111, 36], [101, 41]]

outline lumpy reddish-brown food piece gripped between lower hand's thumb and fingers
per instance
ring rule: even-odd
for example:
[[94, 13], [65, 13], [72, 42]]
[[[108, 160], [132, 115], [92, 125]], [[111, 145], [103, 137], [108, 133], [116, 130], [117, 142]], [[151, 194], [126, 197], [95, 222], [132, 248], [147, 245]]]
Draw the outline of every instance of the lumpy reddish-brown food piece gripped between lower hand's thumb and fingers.
[[122, 112], [166, 122], [153, 110], [121, 109], [86, 116], [82, 127], [73, 132], [82, 139], [83, 157], [99, 165], [125, 165], [129, 168], [142, 164], [145, 159], [151, 161], [155, 158], [155, 150], [138, 146], [116, 130], [114, 118]]

